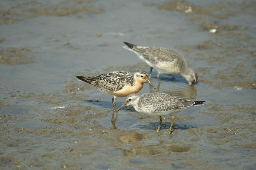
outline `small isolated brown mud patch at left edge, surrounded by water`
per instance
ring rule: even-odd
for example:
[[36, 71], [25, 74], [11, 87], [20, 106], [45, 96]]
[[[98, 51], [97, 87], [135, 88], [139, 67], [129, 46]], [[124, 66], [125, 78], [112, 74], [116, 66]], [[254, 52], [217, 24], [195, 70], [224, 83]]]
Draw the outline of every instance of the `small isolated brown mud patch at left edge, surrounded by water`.
[[0, 48], [0, 63], [22, 65], [34, 63], [30, 48]]

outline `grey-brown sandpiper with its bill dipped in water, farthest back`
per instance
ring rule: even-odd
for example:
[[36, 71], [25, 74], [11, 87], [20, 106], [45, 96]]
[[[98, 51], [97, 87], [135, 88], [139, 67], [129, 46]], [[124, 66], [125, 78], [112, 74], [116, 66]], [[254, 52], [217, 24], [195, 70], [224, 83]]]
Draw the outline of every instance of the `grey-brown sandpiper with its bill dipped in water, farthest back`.
[[188, 67], [184, 56], [180, 53], [168, 48], [137, 46], [128, 42], [124, 43], [127, 46], [123, 46], [123, 48], [136, 53], [140, 59], [151, 66], [150, 74], [153, 68], [157, 70], [159, 79], [160, 73], [167, 73], [184, 77], [189, 85], [197, 81], [198, 76], [196, 72]]

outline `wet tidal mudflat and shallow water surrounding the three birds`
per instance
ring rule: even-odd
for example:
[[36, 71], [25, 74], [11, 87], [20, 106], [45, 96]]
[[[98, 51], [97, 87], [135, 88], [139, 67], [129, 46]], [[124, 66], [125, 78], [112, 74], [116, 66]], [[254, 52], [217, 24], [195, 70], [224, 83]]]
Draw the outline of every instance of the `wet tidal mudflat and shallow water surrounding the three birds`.
[[[253, 1], [0, 2], [1, 169], [255, 169]], [[216, 32], [215, 32], [216, 31]], [[213, 33], [214, 32], [214, 33]], [[149, 71], [123, 41], [171, 48], [194, 86], [153, 69], [153, 89], [206, 100], [163, 117], [126, 107], [75, 76]], [[117, 98], [117, 107], [124, 102]]]

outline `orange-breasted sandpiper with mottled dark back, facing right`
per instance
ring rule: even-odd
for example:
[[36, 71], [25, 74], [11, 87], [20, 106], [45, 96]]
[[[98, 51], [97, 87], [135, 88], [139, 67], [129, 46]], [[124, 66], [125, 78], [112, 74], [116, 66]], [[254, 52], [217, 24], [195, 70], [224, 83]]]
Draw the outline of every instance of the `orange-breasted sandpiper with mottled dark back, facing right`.
[[115, 71], [100, 74], [97, 76], [76, 76], [78, 79], [92, 84], [98, 90], [113, 96], [112, 104], [114, 111], [117, 111], [115, 105], [116, 97], [126, 97], [132, 93], [138, 93], [144, 83], [150, 86], [155, 86], [148, 80], [148, 73], [144, 70], [139, 70], [136, 73]]

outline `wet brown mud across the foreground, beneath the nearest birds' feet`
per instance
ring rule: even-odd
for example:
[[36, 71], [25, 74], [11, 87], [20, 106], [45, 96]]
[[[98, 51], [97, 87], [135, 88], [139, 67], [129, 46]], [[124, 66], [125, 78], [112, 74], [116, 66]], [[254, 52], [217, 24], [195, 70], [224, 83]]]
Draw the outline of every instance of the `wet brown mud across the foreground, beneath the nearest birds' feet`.
[[255, 105], [207, 104], [194, 111], [215, 120], [214, 124], [204, 126], [197, 124], [203, 121], [200, 116], [179, 113], [175, 115], [175, 131], [170, 136], [168, 117], [157, 135], [158, 117], [133, 110], [119, 112], [114, 129], [112, 108], [88, 106], [90, 103], [85, 100], [101, 101], [87, 96], [85, 91], [85, 94], [73, 92], [11, 91], [1, 101], [1, 112], [7, 114], [0, 119], [4, 132], [1, 166], [5, 169], [212, 169], [225, 168], [227, 163], [230, 168], [254, 166]]

